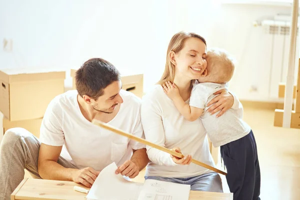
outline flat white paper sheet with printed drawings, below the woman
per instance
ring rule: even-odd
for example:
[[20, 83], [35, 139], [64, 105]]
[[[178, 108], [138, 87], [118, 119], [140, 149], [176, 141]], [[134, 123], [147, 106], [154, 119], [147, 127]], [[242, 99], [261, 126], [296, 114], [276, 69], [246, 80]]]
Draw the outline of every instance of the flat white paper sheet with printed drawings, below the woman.
[[138, 200], [188, 200], [190, 185], [147, 179]]

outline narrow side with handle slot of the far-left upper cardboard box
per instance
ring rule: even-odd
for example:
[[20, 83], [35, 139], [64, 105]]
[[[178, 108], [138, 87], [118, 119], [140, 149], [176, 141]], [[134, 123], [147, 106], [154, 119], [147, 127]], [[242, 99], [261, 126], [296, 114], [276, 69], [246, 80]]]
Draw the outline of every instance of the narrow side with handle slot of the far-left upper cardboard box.
[[8, 82], [5, 82], [4, 80], [1, 80], [1, 79], [0, 79], [0, 111], [7, 118], [10, 117], [10, 114], [9, 114], [9, 84], [8, 84]]

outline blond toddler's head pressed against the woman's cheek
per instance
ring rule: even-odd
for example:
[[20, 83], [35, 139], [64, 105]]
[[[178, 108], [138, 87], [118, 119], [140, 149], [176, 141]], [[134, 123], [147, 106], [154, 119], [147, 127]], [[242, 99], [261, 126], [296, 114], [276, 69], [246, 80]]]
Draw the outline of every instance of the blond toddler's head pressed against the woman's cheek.
[[207, 50], [207, 74], [198, 79], [199, 82], [228, 82], [234, 71], [234, 59], [227, 51], [220, 48], [210, 48]]

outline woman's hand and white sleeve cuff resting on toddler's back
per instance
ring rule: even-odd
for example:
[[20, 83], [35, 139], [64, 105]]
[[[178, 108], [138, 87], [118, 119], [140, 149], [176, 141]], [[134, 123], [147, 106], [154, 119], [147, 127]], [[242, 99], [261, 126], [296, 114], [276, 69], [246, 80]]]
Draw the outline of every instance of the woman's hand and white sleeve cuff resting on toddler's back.
[[239, 107], [239, 100], [238, 98], [228, 92], [226, 89], [219, 90], [215, 92], [214, 94], [219, 94], [215, 96], [213, 99], [209, 101], [207, 106], [211, 105], [207, 111], [211, 114], [214, 114], [215, 112], [220, 111], [216, 116], [221, 116], [227, 109], [237, 109]]

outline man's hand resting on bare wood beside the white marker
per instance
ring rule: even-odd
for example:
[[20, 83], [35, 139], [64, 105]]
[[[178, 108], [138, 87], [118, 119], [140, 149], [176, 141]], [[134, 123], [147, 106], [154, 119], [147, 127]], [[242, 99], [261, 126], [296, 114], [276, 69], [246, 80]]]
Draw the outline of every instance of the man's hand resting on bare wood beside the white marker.
[[76, 183], [82, 183], [87, 187], [91, 187], [100, 171], [96, 171], [91, 167], [76, 169], [72, 174], [72, 180]]

